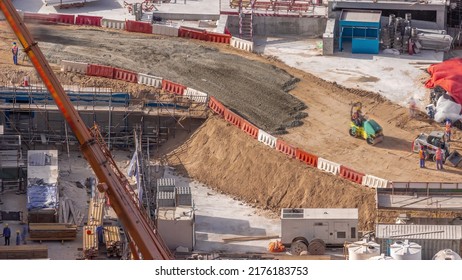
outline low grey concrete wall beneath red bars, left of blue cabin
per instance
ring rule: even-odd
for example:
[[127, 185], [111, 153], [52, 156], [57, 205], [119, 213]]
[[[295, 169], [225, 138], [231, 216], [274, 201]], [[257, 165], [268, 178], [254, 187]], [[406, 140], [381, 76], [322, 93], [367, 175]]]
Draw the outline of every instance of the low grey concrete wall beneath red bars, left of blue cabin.
[[[256, 36], [301, 35], [321, 37], [326, 28], [326, 18], [254, 17], [253, 34]], [[228, 17], [228, 29], [239, 34], [239, 17]]]

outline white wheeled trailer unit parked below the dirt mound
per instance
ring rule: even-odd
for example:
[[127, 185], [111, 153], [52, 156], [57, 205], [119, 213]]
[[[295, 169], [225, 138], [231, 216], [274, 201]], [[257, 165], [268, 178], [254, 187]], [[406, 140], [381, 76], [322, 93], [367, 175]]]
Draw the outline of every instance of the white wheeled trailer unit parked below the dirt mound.
[[[358, 240], [357, 208], [283, 208], [281, 242], [293, 255], [323, 255], [326, 246]], [[304, 253], [305, 252], [305, 253]]]

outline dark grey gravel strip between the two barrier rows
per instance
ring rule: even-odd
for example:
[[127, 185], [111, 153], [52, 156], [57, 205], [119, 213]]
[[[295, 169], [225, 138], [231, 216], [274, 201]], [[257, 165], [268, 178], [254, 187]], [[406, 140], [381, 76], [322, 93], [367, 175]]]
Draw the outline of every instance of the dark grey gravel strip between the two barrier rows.
[[306, 106], [288, 94], [298, 79], [205, 42], [74, 26], [34, 26], [50, 63], [73, 60], [148, 73], [215, 96], [264, 130], [298, 126]]

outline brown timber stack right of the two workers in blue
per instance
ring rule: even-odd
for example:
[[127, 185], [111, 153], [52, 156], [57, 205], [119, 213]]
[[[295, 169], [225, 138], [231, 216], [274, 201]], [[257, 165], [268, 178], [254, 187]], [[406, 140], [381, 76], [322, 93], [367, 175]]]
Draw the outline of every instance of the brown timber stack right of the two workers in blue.
[[41, 223], [29, 224], [29, 240], [74, 240], [77, 237], [77, 226], [71, 224]]

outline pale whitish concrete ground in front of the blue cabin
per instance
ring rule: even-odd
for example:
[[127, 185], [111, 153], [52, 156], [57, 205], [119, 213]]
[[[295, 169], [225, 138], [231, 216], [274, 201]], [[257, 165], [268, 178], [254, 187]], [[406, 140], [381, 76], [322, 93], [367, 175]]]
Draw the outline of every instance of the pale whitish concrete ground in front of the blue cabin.
[[[296, 36], [260, 37], [255, 50], [274, 56], [287, 65], [342, 86], [379, 93], [406, 106], [409, 97], [427, 105], [423, 82], [429, 77], [421, 68], [443, 61], [444, 53], [422, 51], [417, 55], [352, 54], [347, 49], [322, 56], [322, 39]], [[416, 61], [424, 64], [415, 64]], [[426, 63], [426, 64], [425, 64]], [[419, 103], [419, 102], [418, 102]]]

